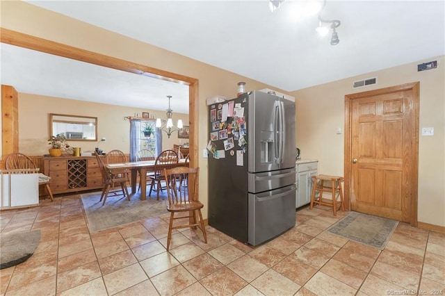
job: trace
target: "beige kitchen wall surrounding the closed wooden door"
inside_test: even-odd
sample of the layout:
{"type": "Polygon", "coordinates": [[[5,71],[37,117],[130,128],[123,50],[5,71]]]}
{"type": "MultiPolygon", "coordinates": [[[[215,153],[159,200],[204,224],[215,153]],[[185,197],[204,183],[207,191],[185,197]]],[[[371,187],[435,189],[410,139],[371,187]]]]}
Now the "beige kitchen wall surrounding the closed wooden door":
{"type": "Polygon", "coordinates": [[[434,127],[433,136],[419,135],[418,220],[445,226],[445,60],[432,57],[291,92],[296,97],[297,147],[302,158],[318,158],[318,172],[343,174],[344,96],[414,81],[420,82],[419,129],[434,127]],[[417,72],[419,63],[437,60],[437,69],[417,72]],[[378,84],[352,89],[353,81],[378,76],[378,84]],[[342,133],[336,133],[341,127],[342,133]]]}

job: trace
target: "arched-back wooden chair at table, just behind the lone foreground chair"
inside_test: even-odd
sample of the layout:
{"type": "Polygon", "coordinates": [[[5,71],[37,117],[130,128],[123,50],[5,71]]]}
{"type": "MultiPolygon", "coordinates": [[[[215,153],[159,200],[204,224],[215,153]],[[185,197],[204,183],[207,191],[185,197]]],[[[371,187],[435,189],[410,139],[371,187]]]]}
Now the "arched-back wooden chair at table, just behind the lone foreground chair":
{"type": "Polygon", "coordinates": [[[178,164],[178,155],[175,150],[164,150],[159,154],[154,162],[154,174],[150,176],[150,191],[149,196],[152,196],[152,190],[156,186],[156,199],[159,200],[159,190],[165,189],[165,185],[162,186],[162,182],[165,182],[165,176],[163,175],[164,169],[171,169],[178,164]]]}

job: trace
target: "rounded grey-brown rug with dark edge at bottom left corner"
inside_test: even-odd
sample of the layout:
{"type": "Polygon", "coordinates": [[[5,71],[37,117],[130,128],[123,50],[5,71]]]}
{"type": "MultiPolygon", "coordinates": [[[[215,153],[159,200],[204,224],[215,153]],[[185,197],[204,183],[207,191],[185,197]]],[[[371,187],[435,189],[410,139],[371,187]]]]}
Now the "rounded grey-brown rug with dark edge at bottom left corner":
{"type": "Polygon", "coordinates": [[[40,230],[0,234],[0,270],[33,256],[40,241],[40,230]]]}

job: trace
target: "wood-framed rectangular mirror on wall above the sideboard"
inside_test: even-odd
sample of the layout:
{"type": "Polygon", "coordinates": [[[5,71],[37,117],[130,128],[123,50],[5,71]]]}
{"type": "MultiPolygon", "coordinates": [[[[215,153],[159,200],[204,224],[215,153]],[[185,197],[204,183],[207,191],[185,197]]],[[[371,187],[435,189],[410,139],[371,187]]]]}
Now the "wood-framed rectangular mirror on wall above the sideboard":
{"type": "Polygon", "coordinates": [[[51,113],[49,120],[51,135],[65,133],[67,141],[97,141],[97,117],[51,113]]]}

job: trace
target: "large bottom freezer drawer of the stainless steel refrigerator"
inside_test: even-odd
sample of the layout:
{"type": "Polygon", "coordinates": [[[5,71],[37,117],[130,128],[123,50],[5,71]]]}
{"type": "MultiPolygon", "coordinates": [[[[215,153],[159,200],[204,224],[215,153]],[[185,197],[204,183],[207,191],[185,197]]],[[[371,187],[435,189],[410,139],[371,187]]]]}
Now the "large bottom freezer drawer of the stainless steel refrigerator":
{"type": "Polygon", "coordinates": [[[258,245],[270,240],[296,223],[296,187],[249,193],[248,243],[258,245]]]}

